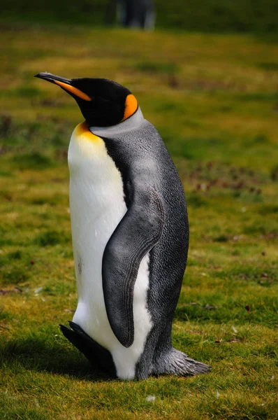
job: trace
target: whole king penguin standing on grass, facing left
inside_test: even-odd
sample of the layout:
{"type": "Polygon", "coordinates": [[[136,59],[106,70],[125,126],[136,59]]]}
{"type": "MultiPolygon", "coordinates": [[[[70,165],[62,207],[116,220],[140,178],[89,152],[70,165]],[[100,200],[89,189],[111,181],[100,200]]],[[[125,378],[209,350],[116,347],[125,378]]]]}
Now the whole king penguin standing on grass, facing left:
{"type": "Polygon", "coordinates": [[[159,133],[136,97],[112,80],[36,77],[70,94],[85,118],[68,148],[78,307],[61,331],[120,379],[208,372],[172,346],[189,224],[159,133]]]}

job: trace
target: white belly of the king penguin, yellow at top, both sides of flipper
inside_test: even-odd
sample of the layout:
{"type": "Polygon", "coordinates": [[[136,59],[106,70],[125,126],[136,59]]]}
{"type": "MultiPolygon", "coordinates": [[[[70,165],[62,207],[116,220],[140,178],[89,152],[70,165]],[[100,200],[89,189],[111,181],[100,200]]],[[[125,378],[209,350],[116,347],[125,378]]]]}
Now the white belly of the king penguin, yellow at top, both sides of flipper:
{"type": "Polygon", "coordinates": [[[68,148],[71,230],[78,307],[73,322],[110,351],[117,376],[133,379],[152,320],[147,309],[149,254],[140,263],[133,292],[134,342],[126,348],[115,337],[103,297],[102,260],[105,246],[126,214],[122,176],[105,143],[87,129],[75,128],[68,148]]]}

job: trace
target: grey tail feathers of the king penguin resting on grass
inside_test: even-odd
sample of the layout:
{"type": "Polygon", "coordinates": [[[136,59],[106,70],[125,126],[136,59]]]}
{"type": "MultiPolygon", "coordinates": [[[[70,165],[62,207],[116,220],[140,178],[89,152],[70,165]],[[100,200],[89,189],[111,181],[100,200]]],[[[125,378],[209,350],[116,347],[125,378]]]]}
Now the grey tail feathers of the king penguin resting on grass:
{"type": "Polygon", "coordinates": [[[154,374],[175,374],[193,376],[210,372],[210,366],[189,358],[182,351],[171,349],[159,357],[154,365],[154,374]]]}

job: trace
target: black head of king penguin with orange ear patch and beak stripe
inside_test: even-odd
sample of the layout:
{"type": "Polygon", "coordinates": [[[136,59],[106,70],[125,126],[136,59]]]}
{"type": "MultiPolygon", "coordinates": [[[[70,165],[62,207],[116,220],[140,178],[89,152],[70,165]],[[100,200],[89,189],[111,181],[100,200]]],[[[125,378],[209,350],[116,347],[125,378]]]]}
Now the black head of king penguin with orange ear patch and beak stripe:
{"type": "Polygon", "coordinates": [[[67,79],[52,73],[35,77],[59,85],[80,107],[89,127],[110,127],[122,123],[138,109],[136,97],[126,87],[104,78],[67,79]]]}

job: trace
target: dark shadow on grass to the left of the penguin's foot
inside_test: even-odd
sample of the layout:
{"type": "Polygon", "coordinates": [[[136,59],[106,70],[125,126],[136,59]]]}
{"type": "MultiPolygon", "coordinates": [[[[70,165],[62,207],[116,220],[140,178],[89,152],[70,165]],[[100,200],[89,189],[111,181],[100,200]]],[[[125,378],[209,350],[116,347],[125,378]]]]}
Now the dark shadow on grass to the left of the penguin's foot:
{"type": "Polygon", "coordinates": [[[112,381],[113,378],[100,370],[97,362],[89,361],[74,347],[66,347],[61,338],[50,342],[43,337],[11,339],[0,349],[1,363],[17,363],[33,372],[49,372],[84,381],[112,381]]]}

